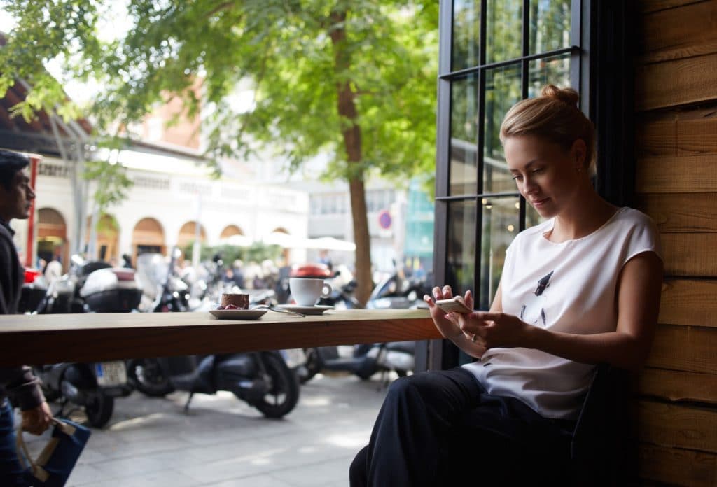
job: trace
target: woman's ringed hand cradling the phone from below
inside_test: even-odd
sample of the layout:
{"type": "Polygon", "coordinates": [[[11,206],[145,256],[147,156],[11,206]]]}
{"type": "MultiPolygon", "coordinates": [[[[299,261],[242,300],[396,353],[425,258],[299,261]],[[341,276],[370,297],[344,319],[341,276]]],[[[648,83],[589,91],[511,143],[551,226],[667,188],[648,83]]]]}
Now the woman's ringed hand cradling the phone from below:
{"type": "Polygon", "coordinates": [[[480,311],[471,314],[449,313],[448,320],[470,337],[471,342],[485,349],[530,346],[528,334],[531,325],[513,314],[480,311]]]}

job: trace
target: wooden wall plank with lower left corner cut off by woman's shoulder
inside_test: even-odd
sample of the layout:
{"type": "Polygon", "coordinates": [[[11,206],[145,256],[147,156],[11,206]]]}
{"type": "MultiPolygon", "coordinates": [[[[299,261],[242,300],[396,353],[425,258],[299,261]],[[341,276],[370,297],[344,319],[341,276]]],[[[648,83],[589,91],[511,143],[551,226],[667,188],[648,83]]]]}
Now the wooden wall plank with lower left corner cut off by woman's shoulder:
{"type": "Polygon", "coordinates": [[[717,232],[717,193],[638,193],[635,208],[663,233],[717,232]]]}

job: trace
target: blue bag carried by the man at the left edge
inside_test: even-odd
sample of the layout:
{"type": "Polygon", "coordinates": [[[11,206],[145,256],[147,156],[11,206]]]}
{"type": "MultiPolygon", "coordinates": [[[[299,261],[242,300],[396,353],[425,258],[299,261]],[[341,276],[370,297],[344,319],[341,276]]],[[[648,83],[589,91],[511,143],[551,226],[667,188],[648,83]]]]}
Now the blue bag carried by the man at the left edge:
{"type": "Polygon", "coordinates": [[[70,420],[52,419],[52,438],[33,461],[22,439],[22,430],[17,432],[17,455],[20,463],[29,463],[29,481],[35,487],[62,487],[75,468],[90,438],[90,430],[70,420]],[[23,455],[20,452],[24,453],[23,455]],[[24,461],[27,459],[27,463],[24,461]]]}

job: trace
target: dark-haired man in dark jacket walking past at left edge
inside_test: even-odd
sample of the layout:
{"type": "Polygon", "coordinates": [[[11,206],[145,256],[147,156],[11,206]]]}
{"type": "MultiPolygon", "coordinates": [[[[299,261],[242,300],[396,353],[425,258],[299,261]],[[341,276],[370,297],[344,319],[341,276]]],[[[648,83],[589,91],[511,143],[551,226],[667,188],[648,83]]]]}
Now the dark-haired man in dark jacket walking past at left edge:
{"type": "MultiPolygon", "coordinates": [[[[0,314],[17,312],[24,281],[10,221],[27,218],[35,198],[29,185],[28,165],[24,156],[0,150],[0,314]]],[[[27,486],[26,471],[17,458],[13,410],[8,397],[21,410],[22,429],[34,435],[47,430],[52,413],[30,367],[0,368],[0,486],[27,486]]]]}

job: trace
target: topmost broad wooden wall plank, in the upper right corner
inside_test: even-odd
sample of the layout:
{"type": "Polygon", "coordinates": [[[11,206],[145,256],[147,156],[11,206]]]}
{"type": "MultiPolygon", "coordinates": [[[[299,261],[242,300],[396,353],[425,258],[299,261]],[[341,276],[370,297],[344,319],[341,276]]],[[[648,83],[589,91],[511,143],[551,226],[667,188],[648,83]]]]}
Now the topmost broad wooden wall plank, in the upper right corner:
{"type": "Polygon", "coordinates": [[[642,17],[638,62],[717,52],[717,2],[703,1],[642,17]]]}

